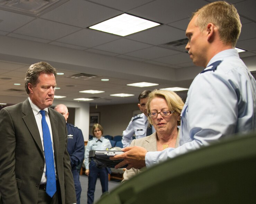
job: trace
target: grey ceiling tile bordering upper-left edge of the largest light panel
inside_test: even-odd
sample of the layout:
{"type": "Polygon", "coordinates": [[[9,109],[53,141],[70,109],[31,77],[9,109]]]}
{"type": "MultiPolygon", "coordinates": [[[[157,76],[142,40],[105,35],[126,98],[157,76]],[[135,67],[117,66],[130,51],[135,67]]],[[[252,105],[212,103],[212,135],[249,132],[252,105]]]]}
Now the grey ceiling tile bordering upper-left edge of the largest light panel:
{"type": "Polygon", "coordinates": [[[85,0],[70,0],[41,18],[86,28],[121,13],[121,11],[85,0]],[[76,18],[71,18],[74,16],[76,18]]]}

